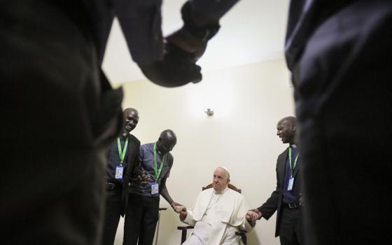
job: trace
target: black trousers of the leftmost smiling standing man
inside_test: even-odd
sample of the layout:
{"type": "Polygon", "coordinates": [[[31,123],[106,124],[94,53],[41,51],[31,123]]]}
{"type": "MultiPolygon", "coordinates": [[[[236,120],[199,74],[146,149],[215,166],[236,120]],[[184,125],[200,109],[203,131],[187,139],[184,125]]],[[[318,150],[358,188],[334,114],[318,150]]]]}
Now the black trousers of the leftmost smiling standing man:
{"type": "MultiPolygon", "coordinates": [[[[118,222],[124,211],[124,200],[121,198],[122,189],[106,190],[106,205],[104,214],[104,230],[101,245],[113,245],[116,238],[118,222]]],[[[126,230],[124,231],[124,235],[126,230]]]]}

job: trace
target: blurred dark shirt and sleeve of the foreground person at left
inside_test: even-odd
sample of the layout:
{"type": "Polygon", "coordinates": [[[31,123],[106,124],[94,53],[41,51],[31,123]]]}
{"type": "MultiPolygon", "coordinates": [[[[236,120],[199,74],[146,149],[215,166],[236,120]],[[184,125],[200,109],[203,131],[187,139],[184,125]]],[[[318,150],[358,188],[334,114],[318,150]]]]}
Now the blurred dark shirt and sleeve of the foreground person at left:
{"type": "MultiPolygon", "coordinates": [[[[52,1],[52,0],[48,0],[52,1]]],[[[161,59],[163,41],[160,6],[162,0],[78,0],[52,1],[92,40],[99,66],[115,17],[135,62],[150,63],[161,59]]]]}

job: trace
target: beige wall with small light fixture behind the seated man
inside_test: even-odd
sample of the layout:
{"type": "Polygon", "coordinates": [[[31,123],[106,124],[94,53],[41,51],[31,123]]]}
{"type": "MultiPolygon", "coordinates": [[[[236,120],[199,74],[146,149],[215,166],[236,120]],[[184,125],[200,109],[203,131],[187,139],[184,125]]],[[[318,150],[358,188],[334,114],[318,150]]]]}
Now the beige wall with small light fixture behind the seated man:
{"type": "MultiPolygon", "coordinates": [[[[141,144],[156,141],[172,129],[177,145],[167,188],[176,202],[190,206],[202,186],[211,183],[218,165],[228,167],[249,207],[259,207],[276,187],[276,158],[285,148],[276,123],[294,115],[293,89],[283,59],[203,73],[203,81],[164,88],[142,80],[124,85],[123,107],[139,110],[133,134],[141,144]],[[212,107],[211,118],[204,108],[212,107]]],[[[161,198],[160,207],[169,207],[161,198]]],[[[274,245],[276,215],[258,221],[248,244],[274,245]]],[[[181,225],[169,207],[161,215],[158,244],[180,244],[181,225]]],[[[123,221],[116,244],[122,244],[123,221]]]]}

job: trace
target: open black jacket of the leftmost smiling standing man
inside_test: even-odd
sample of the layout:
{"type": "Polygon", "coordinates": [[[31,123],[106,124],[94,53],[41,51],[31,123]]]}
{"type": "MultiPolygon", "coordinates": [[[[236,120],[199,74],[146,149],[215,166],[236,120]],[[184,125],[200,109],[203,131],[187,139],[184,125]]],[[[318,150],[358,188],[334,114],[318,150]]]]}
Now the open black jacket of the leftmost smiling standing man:
{"type": "Polygon", "coordinates": [[[128,189],[130,178],[138,176],[141,172],[140,163],[139,163],[139,150],[140,150],[140,141],[137,137],[130,134],[130,140],[128,141],[128,158],[127,158],[127,166],[124,169],[124,177],[123,177],[123,191],[122,198],[125,202],[123,215],[125,214],[125,210],[127,209],[128,204],[128,189]]]}

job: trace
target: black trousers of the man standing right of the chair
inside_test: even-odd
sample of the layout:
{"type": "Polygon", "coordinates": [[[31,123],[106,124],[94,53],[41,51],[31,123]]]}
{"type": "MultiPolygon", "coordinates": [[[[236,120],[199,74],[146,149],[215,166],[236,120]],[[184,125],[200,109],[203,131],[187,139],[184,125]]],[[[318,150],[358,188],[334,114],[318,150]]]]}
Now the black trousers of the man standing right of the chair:
{"type": "Polygon", "coordinates": [[[283,207],[280,218],[279,239],[281,245],[303,245],[302,208],[283,207]]]}

